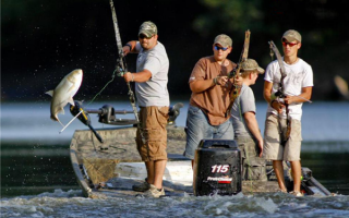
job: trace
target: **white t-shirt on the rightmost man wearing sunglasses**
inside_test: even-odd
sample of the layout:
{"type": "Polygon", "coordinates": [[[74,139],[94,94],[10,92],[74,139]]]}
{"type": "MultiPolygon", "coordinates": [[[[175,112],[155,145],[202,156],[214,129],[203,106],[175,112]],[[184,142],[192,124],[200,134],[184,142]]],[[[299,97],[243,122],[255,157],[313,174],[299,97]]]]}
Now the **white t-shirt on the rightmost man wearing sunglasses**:
{"type": "MultiPolygon", "coordinates": [[[[298,96],[302,93],[303,87],[314,86],[313,84],[313,70],[302,59],[299,59],[294,64],[287,64],[284,61],[285,71],[287,76],[284,78],[285,95],[287,96],[298,96]]],[[[272,95],[277,92],[279,87],[281,74],[280,66],[277,60],[269,63],[265,71],[264,80],[273,83],[272,95]]],[[[294,102],[288,106],[289,116],[292,119],[301,120],[302,117],[302,102],[294,102]]],[[[268,106],[267,112],[273,112],[277,114],[277,111],[268,106]]],[[[286,119],[286,110],[284,109],[282,118],[286,119]]]]}

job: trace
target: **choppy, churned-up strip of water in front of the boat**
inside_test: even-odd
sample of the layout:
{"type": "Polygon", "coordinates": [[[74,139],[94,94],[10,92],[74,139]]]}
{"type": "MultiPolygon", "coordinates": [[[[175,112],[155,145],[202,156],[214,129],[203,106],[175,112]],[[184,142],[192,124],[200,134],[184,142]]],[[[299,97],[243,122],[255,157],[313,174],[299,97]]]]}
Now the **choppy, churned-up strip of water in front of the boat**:
{"type": "Polygon", "coordinates": [[[103,198],[77,191],[1,199],[1,217],[348,217],[349,196],[288,194],[103,198]]]}

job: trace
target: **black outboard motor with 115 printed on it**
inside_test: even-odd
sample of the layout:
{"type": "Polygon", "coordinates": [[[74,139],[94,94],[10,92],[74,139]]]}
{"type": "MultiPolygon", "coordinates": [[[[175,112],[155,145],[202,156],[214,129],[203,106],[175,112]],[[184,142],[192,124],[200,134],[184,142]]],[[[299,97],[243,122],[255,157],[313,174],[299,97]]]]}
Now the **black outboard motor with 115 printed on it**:
{"type": "Polygon", "coordinates": [[[196,196],[241,192],[241,152],[234,141],[202,140],[195,150],[193,170],[196,196]]]}

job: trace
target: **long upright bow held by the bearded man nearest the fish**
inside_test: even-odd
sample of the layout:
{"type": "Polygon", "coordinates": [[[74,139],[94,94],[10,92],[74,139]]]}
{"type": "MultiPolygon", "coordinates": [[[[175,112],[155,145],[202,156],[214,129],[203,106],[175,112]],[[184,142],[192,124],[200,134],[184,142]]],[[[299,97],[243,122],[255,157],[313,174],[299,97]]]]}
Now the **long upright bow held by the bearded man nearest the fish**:
{"type": "MultiPolygon", "coordinates": [[[[119,71],[118,76],[123,76],[123,74],[125,72],[128,72],[128,70],[127,70],[128,66],[127,66],[125,57],[124,57],[124,53],[122,50],[122,43],[121,43],[121,36],[120,36],[120,31],[119,31],[119,25],[118,25],[118,20],[117,20],[117,12],[113,7],[112,0],[110,0],[110,9],[111,9],[113,29],[116,32],[117,46],[118,46],[118,51],[119,51],[119,58],[117,61],[117,71],[119,71]]],[[[129,88],[129,96],[130,96],[131,106],[132,106],[132,109],[134,112],[135,120],[137,122],[137,129],[140,130],[142,142],[145,143],[143,129],[141,126],[141,122],[140,122],[140,118],[139,118],[139,111],[135,106],[135,97],[134,97],[133,90],[131,88],[130,82],[128,82],[127,84],[128,84],[128,88],[129,88]]]]}

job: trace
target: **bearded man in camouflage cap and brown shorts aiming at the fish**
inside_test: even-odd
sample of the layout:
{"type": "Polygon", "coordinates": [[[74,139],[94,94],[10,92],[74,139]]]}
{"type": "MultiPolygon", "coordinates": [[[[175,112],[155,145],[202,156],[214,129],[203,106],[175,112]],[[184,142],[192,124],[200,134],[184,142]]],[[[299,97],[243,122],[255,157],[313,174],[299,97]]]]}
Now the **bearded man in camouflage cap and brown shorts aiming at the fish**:
{"type": "Polygon", "coordinates": [[[132,189],[151,197],[165,195],[163,175],[167,162],[166,125],[170,104],[167,90],[169,60],[157,38],[156,25],[144,22],[140,27],[139,40],[131,40],[123,47],[124,55],[139,53],[136,72],[127,72],[123,77],[125,82],[135,83],[143,133],[142,138],[137,130],[136,145],[147,170],[145,182],[132,189]]]}

